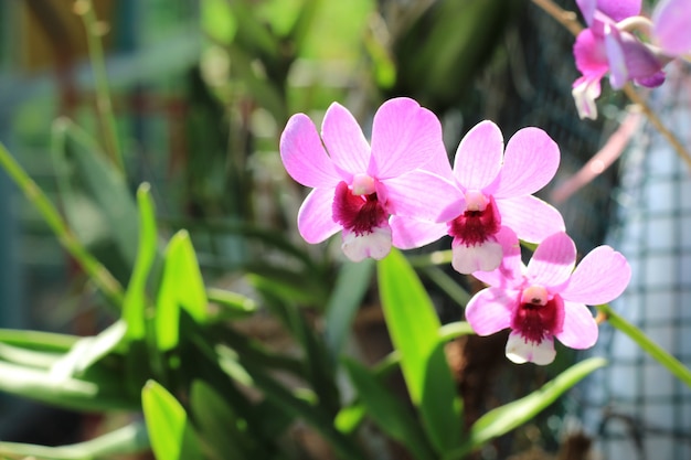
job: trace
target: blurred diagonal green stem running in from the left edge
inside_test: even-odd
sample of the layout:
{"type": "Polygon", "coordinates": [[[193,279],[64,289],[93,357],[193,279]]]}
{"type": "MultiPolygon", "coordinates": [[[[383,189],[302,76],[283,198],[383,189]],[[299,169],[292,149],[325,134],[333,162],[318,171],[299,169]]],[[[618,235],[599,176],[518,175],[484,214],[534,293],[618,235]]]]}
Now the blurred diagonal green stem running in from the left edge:
{"type": "Polygon", "coordinates": [[[53,229],[60,244],[75,258],[84,271],[94,280],[103,293],[116,306],[123,303],[124,295],[120,284],[110,272],[92,256],[79,243],[74,232],[57,212],[43,190],[26,174],[26,171],[14,160],[0,142],[0,167],[21,189],[26,199],[41,213],[45,223],[53,229]]]}

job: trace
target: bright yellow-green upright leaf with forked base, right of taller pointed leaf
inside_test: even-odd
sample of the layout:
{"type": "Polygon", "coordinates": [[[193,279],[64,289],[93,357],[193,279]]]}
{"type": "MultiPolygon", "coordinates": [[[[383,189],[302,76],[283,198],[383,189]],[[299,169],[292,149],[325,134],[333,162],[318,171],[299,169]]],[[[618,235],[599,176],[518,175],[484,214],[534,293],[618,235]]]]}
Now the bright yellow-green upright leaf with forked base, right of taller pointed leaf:
{"type": "Polygon", "coordinates": [[[156,338],[161,351],[172,350],[180,340],[180,309],[205,322],[206,291],[199,263],[185,231],[171,238],[166,249],[163,277],[157,300],[156,338]]]}

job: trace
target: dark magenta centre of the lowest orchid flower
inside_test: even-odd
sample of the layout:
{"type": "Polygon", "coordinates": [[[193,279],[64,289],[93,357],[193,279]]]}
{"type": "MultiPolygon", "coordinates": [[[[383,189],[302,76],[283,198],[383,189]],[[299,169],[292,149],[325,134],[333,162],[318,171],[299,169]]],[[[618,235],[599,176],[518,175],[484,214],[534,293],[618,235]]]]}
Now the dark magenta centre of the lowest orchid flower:
{"type": "Polygon", "coordinates": [[[562,330],[564,301],[559,295],[550,296],[542,286],[530,286],[521,292],[520,302],[511,319],[511,329],[528,342],[541,343],[562,330]]]}

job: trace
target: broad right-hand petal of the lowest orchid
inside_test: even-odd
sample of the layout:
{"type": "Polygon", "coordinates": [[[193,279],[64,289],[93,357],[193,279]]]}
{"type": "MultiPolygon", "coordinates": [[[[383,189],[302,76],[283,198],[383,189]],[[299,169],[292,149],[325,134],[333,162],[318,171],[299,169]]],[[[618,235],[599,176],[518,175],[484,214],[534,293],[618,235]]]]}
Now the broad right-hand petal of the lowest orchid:
{"type": "Polygon", "coordinates": [[[609,246],[598,246],[581,260],[561,296],[591,306],[607,303],[624,292],[630,279],[626,257],[609,246]]]}

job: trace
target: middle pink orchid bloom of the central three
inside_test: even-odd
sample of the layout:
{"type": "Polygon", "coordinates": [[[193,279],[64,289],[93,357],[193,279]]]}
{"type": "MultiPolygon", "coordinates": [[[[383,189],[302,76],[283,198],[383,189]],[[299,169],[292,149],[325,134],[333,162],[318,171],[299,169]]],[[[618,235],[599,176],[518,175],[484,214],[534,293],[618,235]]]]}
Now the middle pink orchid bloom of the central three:
{"type": "Polygon", "coordinates": [[[532,196],[554,176],[559,162],[559,147],[543,130],[519,130],[504,152],[499,127],[481,121],[461,139],[453,171],[448,161],[425,167],[456,184],[436,223],[392,217],[394,245],[419,247],[448,234],[454,237],[451,265],[457,271],[496,269],[503,257],[498,238],[508,228],[531,243],[564,231],[559,211],[532,196]]]}

